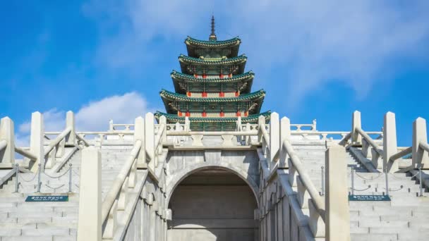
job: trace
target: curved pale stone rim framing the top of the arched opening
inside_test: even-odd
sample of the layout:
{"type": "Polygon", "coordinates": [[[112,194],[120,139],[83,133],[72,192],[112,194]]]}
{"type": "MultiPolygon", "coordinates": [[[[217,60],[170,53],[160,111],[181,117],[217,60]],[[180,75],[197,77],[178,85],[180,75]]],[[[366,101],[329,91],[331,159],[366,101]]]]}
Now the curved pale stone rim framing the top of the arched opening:
{"type": "Polygon", "coordinates": [[[248,187],[250,187],[250,190],[253,192],[253,196],[255,197],[255,202],[259,208],[259,199],[258,199],[258,192],[259,192],[259,186],[258,183],[252,178],[246,171],[242,170],[241,168],[236,168],[234,166],[226,166],[226,165],[213,165],[208,163],[197,163],[193,166],[191,166],[191,170],[189,168],[183,169],[179,173],[175,173],[174,177],[169,180],[167,183],[167,200],[166,204],[167,206],[170,203],[170,199],[172,194],[174,193],[174,190],[176,190],[176,187],[188,176],[198,173],[199,171],[204,170],[210,170],[210,169],[219,169],[223,171],[229,171],[230,173],[234,173],[239,178],[244,180],[244,182],[247,183],[248,187]]]}

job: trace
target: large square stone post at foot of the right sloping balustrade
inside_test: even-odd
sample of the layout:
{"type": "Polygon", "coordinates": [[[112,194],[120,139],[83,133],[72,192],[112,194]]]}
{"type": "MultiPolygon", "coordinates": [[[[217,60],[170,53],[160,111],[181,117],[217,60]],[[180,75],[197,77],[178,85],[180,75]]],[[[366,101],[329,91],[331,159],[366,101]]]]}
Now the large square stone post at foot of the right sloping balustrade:
{"type": "Polygon", "coordinates": [[[346,149],[337,144],[327,149],[325,234],[326,240],[350,240],[349,199],[347,195],[346,149]]]}

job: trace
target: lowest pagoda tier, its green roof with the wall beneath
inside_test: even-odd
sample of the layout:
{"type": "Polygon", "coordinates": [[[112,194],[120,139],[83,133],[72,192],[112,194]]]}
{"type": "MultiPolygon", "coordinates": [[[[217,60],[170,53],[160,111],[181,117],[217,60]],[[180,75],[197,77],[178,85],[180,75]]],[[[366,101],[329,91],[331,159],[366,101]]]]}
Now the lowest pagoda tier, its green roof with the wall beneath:
{"type": "MultiPolygon", "coordinates": [[[[270,121],[270,111],[259,113],[255,115],[250,115],[246,117],[241,117],[241,123],[258,123],[259,116],[265,116],[265,121],[268,123],[270,121]]],[[[155,118],[159,120],[160,116],[165,116],[167,118],[167,123],[185,123],[186,117],[177,116],[175,114],[162,113],[157,111],[155,113],[155,118]]],[[[236,130],[236,121],[237,117],[188,117],[191,121],[191,130],[192,131],[234,131],[236,130]]]]}

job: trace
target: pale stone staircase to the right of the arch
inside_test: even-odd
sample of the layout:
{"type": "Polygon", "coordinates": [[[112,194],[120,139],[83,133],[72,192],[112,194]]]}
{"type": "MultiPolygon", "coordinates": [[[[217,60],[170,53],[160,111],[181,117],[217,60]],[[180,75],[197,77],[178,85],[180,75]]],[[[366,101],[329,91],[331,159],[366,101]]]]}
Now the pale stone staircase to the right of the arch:
{"type": "MultiPolygon", "coordinates": [[[[315,187],[321,191],[325,143],[294,144],[294,149],[315,187]]],[[[355,191],[355,194],[385,194],[384,173],[369,173],[349,152],[346,163],[356,170],[354,189],[364,190],[355,191]]],[[[410,173],[394,173],[388,178],[391,202],[349,202],[351,240],[429,240],[429,197],[425,192],[423,197],[418,197],[418,177],[412,178],[410,173]]]]}

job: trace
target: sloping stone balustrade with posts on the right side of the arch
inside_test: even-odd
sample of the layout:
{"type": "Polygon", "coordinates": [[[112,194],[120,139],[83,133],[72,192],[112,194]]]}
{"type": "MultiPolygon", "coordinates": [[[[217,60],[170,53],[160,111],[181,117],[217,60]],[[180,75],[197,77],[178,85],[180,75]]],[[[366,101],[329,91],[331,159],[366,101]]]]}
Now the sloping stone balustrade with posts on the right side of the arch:
{"type": "MultiPolygon", "coordinates": [[[[279,115],[272,113],[270,120],[270,133],[267,133],[264,117],[260,116],[258,121],[260,156],[265,159],[261,164],[262,169],[267,170],[262,182],[263,187],[260,187],[264,190],[261,202],[265,202],[265,206],[258,213],[258,218],[261,221],[261,227],[273,225],[273,217],[278,218],[277,221],[285,221],[289,225],[281,229],[274,228],[275,233],[262,229],[262,240],[274,240],[274,237],[279,237],[279,235],[287,236],[286,240],[315,240],[324,237],[328,237],[328,240],[350,240],[346,165],[338,165],[339,162],[344,161],[344,147],[335,144],[334,147],[327,150],[327,175],[331,173],[336,177],[341,175],[340,178],[344,181],[338,183],[337,180],[327,178],[328,188],[326,200],[324,200],[310,180],[298,155],[294,152],[291,144],[292,132],[289,118],[284,117],[279,120],[279,115]],[[287,172],[286,169],[288,169],[287,172]],[[274,176],[280,178],[276,179],[274,176]],[[286,177],[286,180],[282,176],[286,177]],[[281,191],[275,180],[279,180],[281,191]],[[286,200],[282,201],[285,198],[286,200]],[[325,202],[327,202],[326,206],[325,202]],[[279,211],[285,209],[294,214],[289,211],[286,213],[279,211]],[[339,213],[344,219],[337,218],[339,213]],[[335,233],[333,227],[340,228],[342,232],[335,233]]],[[[347,133],[340,134],[347,135],[347,133]]]]}

